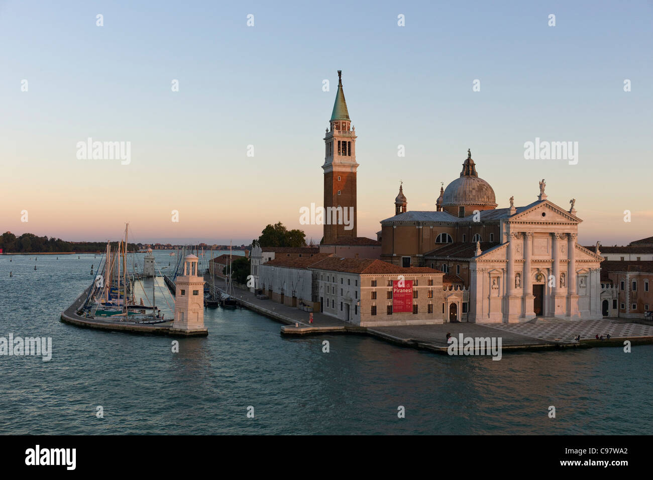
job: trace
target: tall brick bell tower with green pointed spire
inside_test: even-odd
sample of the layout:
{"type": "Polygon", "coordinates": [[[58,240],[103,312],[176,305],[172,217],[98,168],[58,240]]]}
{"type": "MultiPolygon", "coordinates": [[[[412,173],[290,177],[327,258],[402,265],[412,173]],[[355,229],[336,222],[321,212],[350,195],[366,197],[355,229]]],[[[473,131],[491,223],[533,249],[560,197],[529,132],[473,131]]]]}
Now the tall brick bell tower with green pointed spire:
{"type": "MultiPolygon", "coordinates": [[[[325,136],[325,163],[322,165],[325,175],[324,207],[347,209],[345,215],[349,226],[347,230],[340,213],[339,223],[328,225],[325,214],[324,244],[333,244],[339,237],[356,238],[356,131],[351,128],[345,93],[342,91],[342,70],[338,70],[338,93],[333,104],[333,112],[329,121],[330,129],[325,136]],[[353,210],[351,210],[351,208],[353,210]],[[350,214],[351,212],[351,214],[350,214]]],[[[329,219],[330,220],[330,219],[329,219]]]]}

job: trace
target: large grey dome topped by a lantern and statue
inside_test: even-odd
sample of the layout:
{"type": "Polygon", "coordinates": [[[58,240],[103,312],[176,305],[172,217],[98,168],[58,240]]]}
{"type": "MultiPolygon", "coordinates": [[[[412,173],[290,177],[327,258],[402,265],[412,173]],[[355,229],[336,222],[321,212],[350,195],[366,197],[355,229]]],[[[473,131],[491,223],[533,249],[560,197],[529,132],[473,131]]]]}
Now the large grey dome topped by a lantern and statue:
{"type": "Polygon", "coordinates": [[[468,150],[468,157],[462,164],[460,177],[447,185],[442,199],[443,206],[488,206],[496,208],[494,190],[490,184],[479,178],[476,166],[471,159],[471,152],[468,150]]]}

